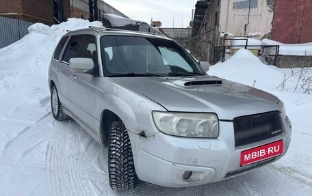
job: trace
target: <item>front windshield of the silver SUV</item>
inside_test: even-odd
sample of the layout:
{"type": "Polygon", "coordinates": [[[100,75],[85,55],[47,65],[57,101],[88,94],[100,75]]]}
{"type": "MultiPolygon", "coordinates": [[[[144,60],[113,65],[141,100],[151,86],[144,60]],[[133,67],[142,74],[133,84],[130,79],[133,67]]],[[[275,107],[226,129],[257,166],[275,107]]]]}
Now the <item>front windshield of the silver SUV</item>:
{"type": "Polygon", "coordinates": [[[205,75],[187,51],[171,40],[103,36],[101,53],[106,76],[205,75]]]}

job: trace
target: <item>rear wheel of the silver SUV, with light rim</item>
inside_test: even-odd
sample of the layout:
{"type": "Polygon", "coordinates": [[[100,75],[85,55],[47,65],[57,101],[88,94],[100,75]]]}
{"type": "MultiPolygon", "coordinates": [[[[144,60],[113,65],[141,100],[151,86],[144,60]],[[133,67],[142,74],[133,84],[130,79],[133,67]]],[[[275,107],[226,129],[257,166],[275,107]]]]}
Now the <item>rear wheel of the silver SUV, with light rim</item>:
{"type": "Polygon", "coordinates": [[[57,89],[53,85],[51,90],[51,111],[55,120],[68,120],[69,117],[63,112],[63,106],[58,98],[57,89]]]}

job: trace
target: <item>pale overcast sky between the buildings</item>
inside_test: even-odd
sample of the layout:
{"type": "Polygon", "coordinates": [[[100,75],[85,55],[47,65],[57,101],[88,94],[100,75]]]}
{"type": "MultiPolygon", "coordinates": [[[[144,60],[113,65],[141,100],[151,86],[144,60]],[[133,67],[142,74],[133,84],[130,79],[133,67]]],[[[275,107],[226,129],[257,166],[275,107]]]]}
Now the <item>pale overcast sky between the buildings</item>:
{"type": "Polygon", "coordinates": [[[195,0],[104,0],[131,19],[148,24],[161,21],[162,27],[188,27],[195,0]]]}

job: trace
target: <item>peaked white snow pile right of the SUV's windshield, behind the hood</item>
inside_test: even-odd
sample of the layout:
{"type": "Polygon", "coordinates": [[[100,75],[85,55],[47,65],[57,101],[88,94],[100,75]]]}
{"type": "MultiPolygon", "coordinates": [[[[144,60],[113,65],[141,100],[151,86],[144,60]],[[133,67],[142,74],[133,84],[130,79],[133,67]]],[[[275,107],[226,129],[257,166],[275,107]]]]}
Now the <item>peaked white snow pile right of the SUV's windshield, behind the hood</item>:
{"type": "MultiPolygon", "coordinates": [[[[274,92],[280,92],[282,88],[279,87],[276,89],[276,87],[291,76],[285,81],[284,90],[287,92],[294,92],[301,69],[302,68],[280,69],[275,66],[265,65],[250,51],[239,49],[230,59],[223,63],[218,63],[215,66],[211,66],[209,74],[270,92],[272,92],[272,90],[274,90],[274,92]]],[[[312,76],[312,69],[305,68],[304,76],[306,76],[306,78],[312,76]]],[[[299,85],[302,85],[302,80],[300,79],[299,85]]],[[[296,91],[298,93],[303,93],[303,90],[300,89],[296,91]]]]}

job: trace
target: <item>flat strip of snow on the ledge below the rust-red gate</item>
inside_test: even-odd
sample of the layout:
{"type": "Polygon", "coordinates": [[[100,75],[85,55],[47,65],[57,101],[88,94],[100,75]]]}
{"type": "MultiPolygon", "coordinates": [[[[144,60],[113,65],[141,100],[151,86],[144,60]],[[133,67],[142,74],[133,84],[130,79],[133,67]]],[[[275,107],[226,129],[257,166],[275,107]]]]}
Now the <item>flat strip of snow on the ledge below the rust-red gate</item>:
{"type": "MultiPolygon", "coordinates": [[[[293,56],[311,56],[312,55],[312,42],[305,44],[283,44],[274,40],[263,39],[263,45],[279,45],[280,55],[293,55],[293,56]]],[[[275,55],[275,48],[267,48],[266,52],[270,55],[275,55]]]]}

